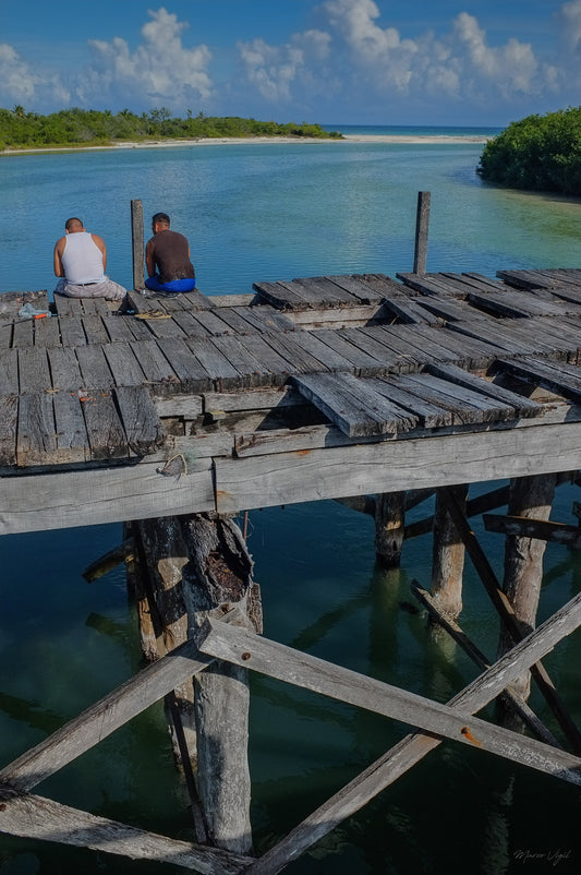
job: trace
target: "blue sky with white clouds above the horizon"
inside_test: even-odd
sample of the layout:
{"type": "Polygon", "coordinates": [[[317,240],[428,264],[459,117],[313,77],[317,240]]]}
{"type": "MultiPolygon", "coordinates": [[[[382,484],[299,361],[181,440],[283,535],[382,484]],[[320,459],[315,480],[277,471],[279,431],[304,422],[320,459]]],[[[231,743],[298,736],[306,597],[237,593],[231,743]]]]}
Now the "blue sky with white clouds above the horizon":
{"type": "Polygon", "coordinates": [[[581,0],[0,0],[0,106],[504,125],[581,104],[581,0]]]}

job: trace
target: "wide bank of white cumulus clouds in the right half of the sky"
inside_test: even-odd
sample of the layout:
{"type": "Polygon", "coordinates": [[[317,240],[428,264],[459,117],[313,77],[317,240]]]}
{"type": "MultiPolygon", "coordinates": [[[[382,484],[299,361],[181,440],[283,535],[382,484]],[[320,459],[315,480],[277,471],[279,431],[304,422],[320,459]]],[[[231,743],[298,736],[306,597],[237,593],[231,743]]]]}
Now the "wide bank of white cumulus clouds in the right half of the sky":
{"type": "MultiPolygon", "coordinates": [[[[581,45],[581,0],[566,3],[562,12],[570,38],[581,45]]],[[[241,47],[246,76],[263,97],[290,100],[308,75],[319,82],[340,80],[346,97],[360,94],[367,101],[373,95],[377,101],[400,103],[438,96],[493,106],[555,92],[565,79],[558,65],[541,62],[529,43],[512,37],[501,46],[491,45],[485,29],[467,12],[450,22],[447,34],[436,37],[426,31],[413,39],[382,26],[374,0],[326,0],[319,13],[324,68],[306,41],[300,63],[292,63],[291,50],[306,34],[295,34],[285,46],[261,40],[259,46],[241,47]]]]}

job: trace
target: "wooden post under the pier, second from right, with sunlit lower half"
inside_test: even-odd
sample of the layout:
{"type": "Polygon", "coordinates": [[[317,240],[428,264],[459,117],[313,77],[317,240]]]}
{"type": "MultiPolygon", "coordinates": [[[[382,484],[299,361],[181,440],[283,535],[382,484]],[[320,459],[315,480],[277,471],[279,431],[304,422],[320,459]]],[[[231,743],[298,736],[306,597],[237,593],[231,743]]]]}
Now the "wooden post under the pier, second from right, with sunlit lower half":
{"type": "MultiPolygon", "coordinates": [[[[465,513],[468,487],[450,487],[458,505],[465,513]]],[[[434,513],[434,546],[432,567],[432,595],[439,610],[457,620],[462,611],[462,574],[464,570],[464,542],[450,516],[447,492],[436,491],[434,513]]]]}

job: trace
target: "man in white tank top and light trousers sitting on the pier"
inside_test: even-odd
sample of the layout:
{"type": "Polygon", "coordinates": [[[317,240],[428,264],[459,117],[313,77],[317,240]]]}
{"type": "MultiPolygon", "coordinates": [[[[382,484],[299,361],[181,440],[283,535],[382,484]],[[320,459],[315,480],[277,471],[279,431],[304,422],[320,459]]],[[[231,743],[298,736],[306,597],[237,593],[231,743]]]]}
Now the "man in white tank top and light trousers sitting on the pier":
{"type": "Polygon", "coordinates": [[[106,275],[107,249],[101,238],[88,233],[80,218],[66,219],[65,235],[55,244],[56,295],[69,298],[106,298],[121,301],[125,289],[106,275]]]}

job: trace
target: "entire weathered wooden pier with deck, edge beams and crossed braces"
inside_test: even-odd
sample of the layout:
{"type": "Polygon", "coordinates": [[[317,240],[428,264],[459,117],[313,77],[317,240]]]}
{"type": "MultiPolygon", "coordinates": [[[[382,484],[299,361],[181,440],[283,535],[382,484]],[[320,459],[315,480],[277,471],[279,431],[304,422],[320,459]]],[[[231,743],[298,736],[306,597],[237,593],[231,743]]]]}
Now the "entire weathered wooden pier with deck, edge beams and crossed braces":
{"type": "MultiPolygon", "coordinates": [[[[470,483],[530,479],[537,488],[542,481],[546,495],[535,506],[550,510],[555,482],[574,479],[581,467],[581,269],[499,271],[497,277],[311,277],[256,283],[253,293],[237,296],[132,291],[120,307],[49,302],[45,292],[0,296],[0,534],[191,515],[219,520],[258,507],[377,495],[376,511],[384,508],[376,513],[377,542],[387,540],[385,551],[397,561],[404,496],[437,490],[437,526],[446,532],[437,563],[447,572],[433,588],[433,596],[444,590],[439,609],[432,599],[433,612],[443,621],[451,616],[455,634],[461,601],[446,590],[455,575],[461,585],[463,553],[458,566],[449,551],[456,539],[508,628],[508,654],[492,668],[481,659],[477,681],[440,706],[299,659],[258,636],[259,622],[249,628],[239,613],[232,623],[235,598],[222,594],[197,624],[195,642],[190,616],[178,649],[158,652],[164,658],[141,675],[4,766],[0,829],[199,872],[270,873],[441,738],[477,740],[483,750],[581,783],[581,738],[537,664],[581,624],[580,597],[533,631],[534,611],[526,620],[507,600],[465,524],[470,483]],[[32,316],[22,310],[26,303],[32,316]],[[380,503],[386,495],[396,499],[380,503]],[[226,622],[217,619],[222,615],[226,622]],[[216,660],[302,683],[420,730],[259,860],[247,841],[243,850],[227,840],[209,847],[199,837],[177,842],[31,794],[216,660]],[[468,716],[531,667],[543,675],[572,753],[553,746],[542,728],[536,741],[468,716]],[[65,823],[76,827],[69,838],[65,823]]],[[[509,538],[579,546],[572,527],[547,522],[548,511],[526,514],[526,501],[511,517],[491,517],[488,527],[509,538]]],[[[419,597],[429,602],[429,594],[419,597]]],[[[184,599],[182,613],[201,610],[184,599]]],[[[517,698],[526,717],[525,693],[517,698]]]]}

